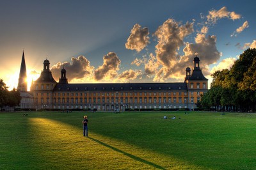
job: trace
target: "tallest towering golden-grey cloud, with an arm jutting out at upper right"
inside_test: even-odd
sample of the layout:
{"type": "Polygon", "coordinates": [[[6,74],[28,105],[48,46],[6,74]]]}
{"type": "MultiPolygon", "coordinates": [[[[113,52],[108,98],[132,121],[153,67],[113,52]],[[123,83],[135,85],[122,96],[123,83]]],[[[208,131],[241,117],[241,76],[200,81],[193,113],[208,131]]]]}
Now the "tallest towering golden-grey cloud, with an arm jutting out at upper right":
{"type": "Polygon", "coordinates": [[[166,20],[154,33],[158,44],[156,45],[157,61],[165,68],[172,68],[177,58],[178,50],[184,45],[184,38],[193,33],[193,23],[180,25],[173,19],[166,20]]]}

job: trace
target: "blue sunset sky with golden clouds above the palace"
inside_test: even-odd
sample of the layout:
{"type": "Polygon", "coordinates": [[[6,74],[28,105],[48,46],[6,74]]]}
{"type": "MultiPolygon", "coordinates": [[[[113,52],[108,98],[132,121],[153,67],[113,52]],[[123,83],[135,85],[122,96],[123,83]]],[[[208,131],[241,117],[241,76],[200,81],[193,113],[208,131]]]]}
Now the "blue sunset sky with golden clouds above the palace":
{"type": "Polygon", "coordinates": [[[183,82],[200,58],[211,73],[256,48],[256,1],[0,0],[0,79],[28,86],[48,59],[58,82],[183,82]]]}

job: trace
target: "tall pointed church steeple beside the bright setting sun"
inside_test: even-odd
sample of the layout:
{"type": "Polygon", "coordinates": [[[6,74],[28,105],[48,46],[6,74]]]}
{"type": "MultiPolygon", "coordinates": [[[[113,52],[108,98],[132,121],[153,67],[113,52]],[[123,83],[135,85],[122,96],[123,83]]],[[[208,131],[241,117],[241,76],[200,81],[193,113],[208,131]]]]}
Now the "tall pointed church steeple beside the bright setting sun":
{"type": "Polygon", "coordinates": [[[20,76],[19,76],[19,83],[18,83],[17,89],[19,91],[28,91],[27,69],[26,69],[26,63],[25,63],[24,50],[22,53],[22,60],[20,65],[20,76]]]}

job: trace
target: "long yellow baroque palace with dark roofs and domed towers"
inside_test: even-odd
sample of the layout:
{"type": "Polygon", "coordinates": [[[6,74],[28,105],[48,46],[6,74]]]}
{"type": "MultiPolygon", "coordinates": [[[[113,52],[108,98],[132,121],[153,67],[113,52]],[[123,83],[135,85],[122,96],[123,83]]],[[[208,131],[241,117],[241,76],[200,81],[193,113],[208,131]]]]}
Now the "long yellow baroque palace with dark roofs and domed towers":
{"type": "Polygon", "coordinates": [[[193,62],[192,73],[186,68],[184,82],[74,84],[68,83],[65,68],[56,82],[45,59],[44,70],[30,89],[33,109],[195,109],[208,89],[208,80],[200,69],[200,59],[195,57],[193,62]]]}

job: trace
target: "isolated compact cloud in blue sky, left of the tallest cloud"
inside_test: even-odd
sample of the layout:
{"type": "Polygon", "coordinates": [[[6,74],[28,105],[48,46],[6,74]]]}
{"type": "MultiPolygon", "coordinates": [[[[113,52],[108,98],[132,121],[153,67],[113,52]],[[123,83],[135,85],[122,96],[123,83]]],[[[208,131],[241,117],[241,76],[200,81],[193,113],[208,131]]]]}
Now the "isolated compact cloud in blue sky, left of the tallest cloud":
{"type": "Polygon", "coordinates": [[[131,35],[127,39],[127,43],[125,43],[125,47],[140,52],[150,43],[148,35],[149,31],[147,27],[141,29],[139,24],[135,24],[131,30],[131,35]]]}

